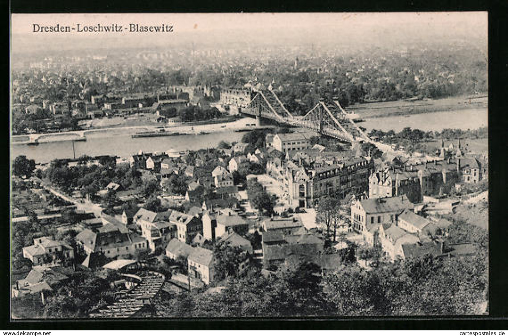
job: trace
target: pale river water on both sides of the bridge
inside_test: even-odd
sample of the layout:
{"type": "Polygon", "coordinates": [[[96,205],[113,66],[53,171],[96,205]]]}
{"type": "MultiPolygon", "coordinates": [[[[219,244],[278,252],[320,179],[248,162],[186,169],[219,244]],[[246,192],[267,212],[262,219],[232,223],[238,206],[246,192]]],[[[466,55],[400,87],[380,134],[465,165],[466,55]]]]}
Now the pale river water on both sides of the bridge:
{"type": "MultiPolygon", "coordinates": [[[[358,125],[370,130],[372,128],[400,131],[404,127],[422,130],[442,130],[443,128],[475,129],[488,125],[487,109],[470,109],[409,116],[389,116],[369,119],[358,125]]],[[[221,140],[238,142],[244,132],[225,130],[204,135],[183,135],[158,138],[132,138],[121,129],[93,132],[86,135],[87,140],[75,142],[76,157],[81,155],[117,155],[130,156],[137,152],[165,152],[170,149],[177,151],[197,150],[200,148],[217,147],[221,140]]],[[[72,141],[41,143],[37,146],[12,145],[11,157],[26,155],[38,163],[50,162],[56,158],[72,158],[72,141]]]]}

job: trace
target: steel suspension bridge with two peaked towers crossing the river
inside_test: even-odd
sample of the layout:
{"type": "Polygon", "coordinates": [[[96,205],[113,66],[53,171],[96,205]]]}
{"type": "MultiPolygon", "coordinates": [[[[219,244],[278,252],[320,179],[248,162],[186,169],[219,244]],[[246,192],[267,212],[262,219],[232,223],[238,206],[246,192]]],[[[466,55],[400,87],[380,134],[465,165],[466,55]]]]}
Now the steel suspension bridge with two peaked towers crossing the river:
{"type": "Polygon", "coordinates": [[[333,103],[320,100],[304,116],[294,116],[280,102],[275,92],[268,88],[258,91],[241,113],[258,119],[265,118],[281,124],[308,128],[343,142],[372,142],[347,116],[337,100],[333,103]]]}

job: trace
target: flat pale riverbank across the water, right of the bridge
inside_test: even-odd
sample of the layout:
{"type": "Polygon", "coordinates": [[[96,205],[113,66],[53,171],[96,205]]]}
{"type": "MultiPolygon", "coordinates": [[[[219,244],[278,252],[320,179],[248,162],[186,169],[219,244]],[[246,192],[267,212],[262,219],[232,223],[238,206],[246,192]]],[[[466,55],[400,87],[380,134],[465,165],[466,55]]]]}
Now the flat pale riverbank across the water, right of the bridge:
{"type": "Polygon", "coordinates": [[[488,108],[488,96],[461,96],[442,99],[395,100],[393,102],[363,103],[345,110],[357,113],[362,119],[406,116],[469,109],[488,108]]]}

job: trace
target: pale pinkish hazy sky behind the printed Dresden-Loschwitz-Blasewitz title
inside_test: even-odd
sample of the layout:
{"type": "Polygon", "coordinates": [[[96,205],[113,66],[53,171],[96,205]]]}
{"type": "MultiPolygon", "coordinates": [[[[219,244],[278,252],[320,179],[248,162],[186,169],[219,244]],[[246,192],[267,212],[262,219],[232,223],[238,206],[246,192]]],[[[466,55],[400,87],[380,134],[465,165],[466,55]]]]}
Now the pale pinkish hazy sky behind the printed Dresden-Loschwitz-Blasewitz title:
{"type": "MultiPolygon", "coordinates": [[[[29,49],[78,49],[94,47],[150,46],[182,42],[245,42],[249,37],[277,43],[280,36],[294,42],[320,43],[372,35],[404,37],[487,37],[486,12],[448,13],[238,13],[238,14],[13,14],[12,51],[29,49]],[[173,25],[173,33],[68,33],[33,32],[33,24],[54,26],[173,25]],[[333,36],[332,36],[333,35],[333,36]]],[[[287,41],[287,40],[283,40],[287,41]]]]}

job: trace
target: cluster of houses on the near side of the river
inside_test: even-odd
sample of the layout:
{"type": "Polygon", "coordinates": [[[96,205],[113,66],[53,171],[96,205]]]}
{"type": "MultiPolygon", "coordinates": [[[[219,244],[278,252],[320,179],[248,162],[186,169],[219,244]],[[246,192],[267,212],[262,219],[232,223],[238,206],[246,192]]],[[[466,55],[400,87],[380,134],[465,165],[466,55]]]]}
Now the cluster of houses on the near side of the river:
{"type": "MultiPolygon", "coordinates": [[[[267,136],[266,148],[255,150],[238,143],[230,149],[139,153],[123,160],[143,174],[160,178],[162,185],[173,175],[184,177],[190,208],[153,212],[135,207],[114,217],[103,213],[100,218],[81,214],[75,247],[53,237],[38,237],[23,248],[23,256],[35,266],[31,275],[16,282],[13,295],[44,290],[64,279],[65,275],[48,272],[47,267],[57,270],[79,264],[93,268],[111,259],[132,259],[146,250],[179,262],[189,277],[210,284],[216,276],[217,260],[209,249],[213,242],[240,248],[245,256],[239,266],[242,270],[252,258],[262,260],[269,270],[295,259],[312,261],[323,272],[340,270],[340,255],[325,253],[326,239],[319,231],[307,229],[298,214],[280,213],[258,222],[239,201],[228,201],[240,199],[235,172],[248,173],[253,163],[265,166],[267,174],[281,183],[287,204],[294,209],[315,207],[325,195],[354,195],[351,220],[340,230],[356,232],[363,244],[382,248],[391,260],[428,253],[436,257],[475,253],[474,244],[448,244],[451,223],[430,216],[424,201],[450,193],[458,183],[485,178],[477,158],[459,150],[451,155],[443,147],[439,160],[408,162],[402,157],[385,157],[379,162],[359,145],[331,152],[321,145],[311,146],[311,137],[299,132],[277,134],[267,136]],[[211,188],[214,196],[203,199],[200,187],[211,188]],[[261,250],[253,249],[246,239],[255,231],[262,236],[261,250]]],[[[104,192],[110,190],[123,192],[116,183],[110,183],[104,192]]]]}

